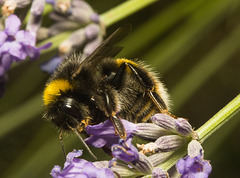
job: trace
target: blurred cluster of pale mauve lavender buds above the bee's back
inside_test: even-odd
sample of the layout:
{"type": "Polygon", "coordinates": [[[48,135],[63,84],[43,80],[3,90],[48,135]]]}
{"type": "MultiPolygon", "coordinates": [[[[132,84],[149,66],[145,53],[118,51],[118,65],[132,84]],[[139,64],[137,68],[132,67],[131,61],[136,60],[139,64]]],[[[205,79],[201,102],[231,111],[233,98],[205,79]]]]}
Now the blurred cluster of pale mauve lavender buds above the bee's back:
{"type": "MultiPolygon", "coordinates": [[[[53,6],[54,11],[50,14],[50,18],[56,23],[48,29],[41,28],[39,36],[46,38],[66,30],[72,30],[74,32],[59,45],[58,55],[63,58],[63,56],[68,56],[73,51],[82,48],[82,58],[88,57],[101,44],[105,34],[105,28],[100,23],[99,15],[87,2],[82,0],[47,0],[46,2],[53,6]]],[[[43,68],[47,68],[50,74],[55,70],[55,68],[51,68],[51,64],[57,64],[55,59],[52,60],[54,61],[43,64],[43,68]],[[47,66],[48,64],[50,66],[47,66]]]]}

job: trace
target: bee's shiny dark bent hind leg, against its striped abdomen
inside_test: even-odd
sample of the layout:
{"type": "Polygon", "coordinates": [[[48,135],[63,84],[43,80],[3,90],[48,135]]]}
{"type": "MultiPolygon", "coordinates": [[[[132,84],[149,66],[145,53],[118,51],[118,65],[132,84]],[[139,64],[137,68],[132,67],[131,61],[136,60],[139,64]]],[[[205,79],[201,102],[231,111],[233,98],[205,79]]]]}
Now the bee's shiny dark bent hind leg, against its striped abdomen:
{"type": "Polygon", "coordinates": [[[139,83],[144,86],[147,90],[149,97],[152,99],[154,104],[158,107],[161,113],[168,113],[168,109],[163,99],[154,91],[155,83],[154,81],[140,68],[133,66],[132,64],[126,63],[127,66],[131,69],[131,71],[137,77],[139,83]]]}

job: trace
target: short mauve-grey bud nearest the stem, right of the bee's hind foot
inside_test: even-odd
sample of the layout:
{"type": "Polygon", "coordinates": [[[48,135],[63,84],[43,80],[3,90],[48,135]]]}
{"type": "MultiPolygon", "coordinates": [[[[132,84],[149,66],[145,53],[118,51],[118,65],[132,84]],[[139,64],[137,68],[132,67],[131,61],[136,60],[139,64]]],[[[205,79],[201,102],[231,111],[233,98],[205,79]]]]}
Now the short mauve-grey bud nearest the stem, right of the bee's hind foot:
{"type": "Polygon", "coordinates": [[[184,118],[177,118],[174,123],[176,131],[181,135],[187,136],[193,131],[192,126],[184,118]]]}

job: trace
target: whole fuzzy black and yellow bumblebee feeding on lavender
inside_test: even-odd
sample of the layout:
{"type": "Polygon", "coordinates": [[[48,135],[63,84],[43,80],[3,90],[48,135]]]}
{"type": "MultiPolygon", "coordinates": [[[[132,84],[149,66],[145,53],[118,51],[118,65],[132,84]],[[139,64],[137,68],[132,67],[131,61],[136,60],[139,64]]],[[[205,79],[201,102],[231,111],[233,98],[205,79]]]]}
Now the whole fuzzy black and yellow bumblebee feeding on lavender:
{"type": "Polygon", "coordinates": [[[121,119],[149,122],[155,113],[168,112],[168,94],[155,73],[141,62],[114,59],[122,50],[116,44],[130,29],[117,29],[83,62],[76,54],[66,58],[50,77],[44,117],[61,131],[82,133],[87,125],[110,119],[125,138],[121,119]]]}

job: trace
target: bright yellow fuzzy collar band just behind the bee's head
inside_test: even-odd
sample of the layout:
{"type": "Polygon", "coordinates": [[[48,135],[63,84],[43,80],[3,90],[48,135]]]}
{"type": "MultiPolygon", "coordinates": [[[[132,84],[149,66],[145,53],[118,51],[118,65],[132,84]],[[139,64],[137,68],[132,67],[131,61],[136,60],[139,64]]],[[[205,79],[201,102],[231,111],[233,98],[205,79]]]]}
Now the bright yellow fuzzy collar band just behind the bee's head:
{"type": "Polygon", "coordinates": [[[54,102],[58,96],[61,95],[61,92],[67,92],[71,90],[73,86],[69,83],[68,80],[58,79],[53,80],[47,84],[43,92],[43,101],[44,105],[49,105],[54,102]]]}

